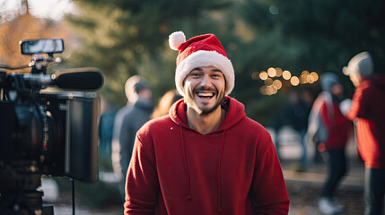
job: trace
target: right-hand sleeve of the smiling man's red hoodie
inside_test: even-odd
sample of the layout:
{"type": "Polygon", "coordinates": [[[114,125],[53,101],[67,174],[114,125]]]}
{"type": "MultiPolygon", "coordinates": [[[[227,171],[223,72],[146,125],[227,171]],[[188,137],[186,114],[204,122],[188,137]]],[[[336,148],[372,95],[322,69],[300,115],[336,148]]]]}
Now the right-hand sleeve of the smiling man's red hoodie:
{"type": "Polygon", "coordinates": [[[258,141],[252,194],[257,214],[287,214],[289,211],[284,175],[269,133],[258,141]]]}

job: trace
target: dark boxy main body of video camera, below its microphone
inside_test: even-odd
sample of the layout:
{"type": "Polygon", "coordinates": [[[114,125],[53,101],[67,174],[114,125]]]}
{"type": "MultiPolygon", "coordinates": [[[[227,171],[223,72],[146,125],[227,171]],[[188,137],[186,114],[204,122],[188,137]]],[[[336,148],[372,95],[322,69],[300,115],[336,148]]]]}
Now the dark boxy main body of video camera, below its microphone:
{"type": "Polygon", "coordinates": [[[0,162],[22,174],[96,181],[99,106],[96,93],[83,91],[0,102],[0,162]]]}

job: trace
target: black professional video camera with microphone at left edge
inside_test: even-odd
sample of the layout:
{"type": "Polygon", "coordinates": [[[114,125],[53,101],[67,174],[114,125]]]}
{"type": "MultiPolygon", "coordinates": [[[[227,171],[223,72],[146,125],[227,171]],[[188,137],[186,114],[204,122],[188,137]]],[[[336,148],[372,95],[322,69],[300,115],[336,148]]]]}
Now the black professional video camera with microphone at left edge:
{"type": "Polygon", "coordinates": [[[41,176],[98,179],[97,68],[47,74],[63,39],[21,41],[28,65],[0,64],[0,214],[53,214],[43,205],[41,176]],[[5,73],[31,67],[31,73],[5,73]],[[66,91],[48,91],[53,86],[66,91]],[[71,91],[72,90],[72,91],[71,91]],[[79,90],[79,91],[76,91],[79,90]]]}

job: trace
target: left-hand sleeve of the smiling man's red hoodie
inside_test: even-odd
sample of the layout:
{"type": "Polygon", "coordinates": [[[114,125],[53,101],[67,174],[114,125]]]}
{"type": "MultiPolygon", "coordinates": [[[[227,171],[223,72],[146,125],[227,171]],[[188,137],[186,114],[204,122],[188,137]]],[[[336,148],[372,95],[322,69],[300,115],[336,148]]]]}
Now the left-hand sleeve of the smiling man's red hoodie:
{"type": "MultiPolygon", "coordinates": [[[[148,150],[148,149],[147,149],[148,150]]],[[[153,156],[136,137],[127,170],[125,214],[153,214],[158,204],[160,185],[153,156]]]]}

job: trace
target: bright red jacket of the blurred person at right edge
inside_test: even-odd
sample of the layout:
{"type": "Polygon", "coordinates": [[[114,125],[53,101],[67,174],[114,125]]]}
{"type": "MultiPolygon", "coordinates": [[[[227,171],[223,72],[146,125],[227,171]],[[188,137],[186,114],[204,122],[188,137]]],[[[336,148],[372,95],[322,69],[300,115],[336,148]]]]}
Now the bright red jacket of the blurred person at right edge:
{"type": "Polygon", "coordinates": [[[385,76],[364,80],[355,89],[347,117],[358,118],[357,145],[365,168],[385,168],[385,76]]]}

